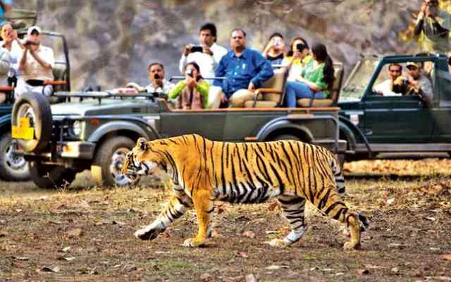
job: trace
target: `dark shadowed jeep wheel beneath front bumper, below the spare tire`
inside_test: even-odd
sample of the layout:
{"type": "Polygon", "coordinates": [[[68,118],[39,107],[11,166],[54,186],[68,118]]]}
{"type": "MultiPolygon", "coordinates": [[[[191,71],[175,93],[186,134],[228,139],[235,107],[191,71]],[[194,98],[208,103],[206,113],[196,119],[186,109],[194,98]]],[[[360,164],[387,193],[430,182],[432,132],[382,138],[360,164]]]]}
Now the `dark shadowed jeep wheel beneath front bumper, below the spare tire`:
{"type": "Polygon", "coordinates": [[[77,175],[77,171],[63,166],[42,164],[39,161],[30,161],[29,164],[31,180],[43,189],[66,188],[77,175]]]}

